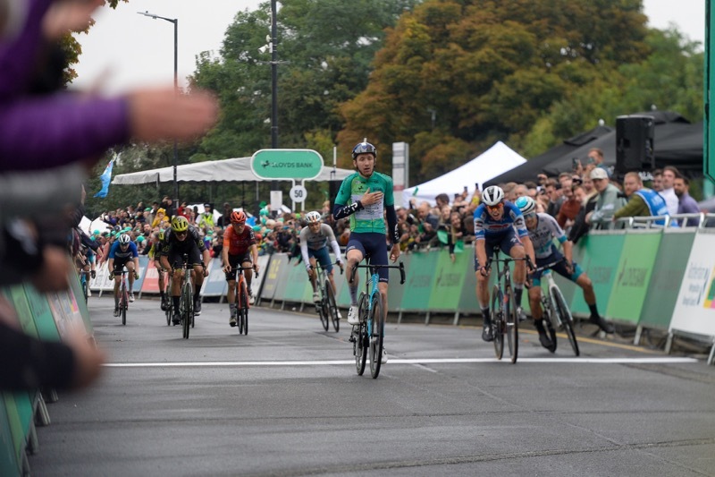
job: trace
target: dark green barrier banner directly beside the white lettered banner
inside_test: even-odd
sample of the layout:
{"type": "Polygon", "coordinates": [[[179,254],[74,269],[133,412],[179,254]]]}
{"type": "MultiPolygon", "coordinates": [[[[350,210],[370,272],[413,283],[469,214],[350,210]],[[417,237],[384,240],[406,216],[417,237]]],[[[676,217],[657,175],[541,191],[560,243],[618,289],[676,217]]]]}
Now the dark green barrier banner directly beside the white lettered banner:
{"type": "Polygon", "coordinates": [[[684,232],[683,229],[669,229],[663,234],[638,324],[646,328],[668,329],[694,239],[694,231],[684,232]]]}

